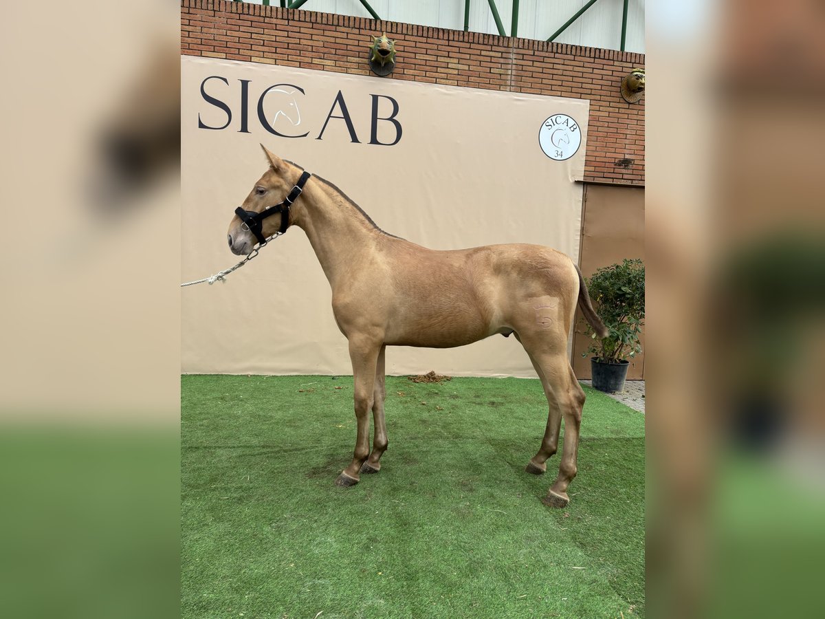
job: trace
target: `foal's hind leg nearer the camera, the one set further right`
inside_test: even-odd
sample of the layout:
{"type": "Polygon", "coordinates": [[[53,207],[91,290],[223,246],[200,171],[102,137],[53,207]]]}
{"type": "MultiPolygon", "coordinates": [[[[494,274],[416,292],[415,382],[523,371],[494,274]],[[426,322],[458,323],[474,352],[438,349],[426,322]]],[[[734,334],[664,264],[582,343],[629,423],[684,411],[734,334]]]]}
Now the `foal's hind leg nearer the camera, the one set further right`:
{"type": "MultiPolygon", "coordinates": [[[[544,347],[541,343],[538,346],[531,346],[529,341],[522,343],[528,354],[544,372],[550,391],[559,406],[561,417],[564,418],[564,442],[559,462],[559,475],[544,498],[544,504],[553,508],[563,508],[570,502],[567,489],[577,472],[578,432],[582,423],[584,391],[578,384],[568,361],[566,342],[563,346],[559,345],[559,342],[552,347],[544,347]]],[[[553,428],[550,428],[549,420],[548,427],[552,438],[553,428]]],[[[542,448],[544,448],[544,443],[542,443],[542,448]]]]}

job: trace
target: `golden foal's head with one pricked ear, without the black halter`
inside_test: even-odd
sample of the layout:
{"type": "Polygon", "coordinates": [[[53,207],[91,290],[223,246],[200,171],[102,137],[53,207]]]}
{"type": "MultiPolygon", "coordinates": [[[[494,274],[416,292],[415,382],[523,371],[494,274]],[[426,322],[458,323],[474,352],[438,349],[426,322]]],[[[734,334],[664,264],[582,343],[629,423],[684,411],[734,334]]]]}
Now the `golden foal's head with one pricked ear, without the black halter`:
{"type": "MultiPolygon", "coordinates": [[[[290,176],[289,165],[276,154],[270,153],[263,144],[261,144],[261,148],[266,154],[266,162],[269,163],[269,168],[257,180],[247,199],[241,205],[243,210],[252,213],[261,213],[263,210],[284,201],[284,198],[289,195],[290,189],[295,185],[295,178],[290,176]]],[[[263,220],[262,234],[265,237],[275,234],[281,228],[281,217],[284,216],[284,214],[277,213],[263,220]]],[[[232,221],[229,222],[227,238],[232,253],[236,253],[238,256],[250,253],[252,248],[255,247],[255,243],[258,242],[255,234],[252,234],[252,230],[248,229],[247,225],[243,225],[243,221],[238,215],[235,215],[232,221]]]]}

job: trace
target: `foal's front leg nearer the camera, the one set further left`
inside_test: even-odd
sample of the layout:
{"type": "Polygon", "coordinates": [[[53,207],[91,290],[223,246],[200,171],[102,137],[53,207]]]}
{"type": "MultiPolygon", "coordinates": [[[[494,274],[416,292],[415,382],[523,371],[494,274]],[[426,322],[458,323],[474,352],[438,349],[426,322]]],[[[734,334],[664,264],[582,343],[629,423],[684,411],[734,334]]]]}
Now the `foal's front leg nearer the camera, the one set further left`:
{"type": "Polygon", "coordinates": [[[361,465],[370,455],[370,409],[375,394],[375,369],[382,344],[370,338],[354,336],[350,338],[350,358],[352,360],[353,391],[356,408],[358,434],[352,461],[335,484],[346,488],[361,479],[361,465]]]}

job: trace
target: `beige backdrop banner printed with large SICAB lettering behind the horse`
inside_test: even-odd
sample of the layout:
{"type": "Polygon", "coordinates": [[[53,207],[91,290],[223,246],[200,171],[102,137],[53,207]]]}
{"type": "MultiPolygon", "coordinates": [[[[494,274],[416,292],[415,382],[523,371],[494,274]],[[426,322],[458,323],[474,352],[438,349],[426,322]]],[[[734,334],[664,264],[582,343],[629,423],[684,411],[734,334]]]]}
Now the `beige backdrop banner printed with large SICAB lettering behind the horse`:
{"type": "MultiPolygon", "coordinates": [[[[187,56],[181,64],[181,281],[238,261],[226,233],[266,170],[258,143],[414,243],[539,243],[578,257],[585,100],[187,56]],[[397,144],[384,145],[398,127],[397,144]]],[[[328,281],[299,228],[225,283],[181,295],[184,372],[351,374],[328,281]]],[[[388,374],[430,370],[535,376],[515,338],[498,335],[387,351],[388,374]]]]}

